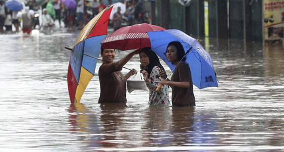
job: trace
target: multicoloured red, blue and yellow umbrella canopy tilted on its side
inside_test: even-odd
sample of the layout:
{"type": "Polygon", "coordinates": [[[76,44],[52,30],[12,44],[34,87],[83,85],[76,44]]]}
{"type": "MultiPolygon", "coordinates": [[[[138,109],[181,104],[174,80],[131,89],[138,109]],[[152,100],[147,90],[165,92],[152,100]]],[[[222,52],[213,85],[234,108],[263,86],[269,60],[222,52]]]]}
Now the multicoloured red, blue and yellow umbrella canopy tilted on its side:
{"type": "Polygon", "coordinates": [[[111,8],[105,8],[96,15],[80,32],[68,66],[67,83],[72,104],[79,103],[81,97],[95,74],[100,53],[100,42],[107,37],[111,8]]]}

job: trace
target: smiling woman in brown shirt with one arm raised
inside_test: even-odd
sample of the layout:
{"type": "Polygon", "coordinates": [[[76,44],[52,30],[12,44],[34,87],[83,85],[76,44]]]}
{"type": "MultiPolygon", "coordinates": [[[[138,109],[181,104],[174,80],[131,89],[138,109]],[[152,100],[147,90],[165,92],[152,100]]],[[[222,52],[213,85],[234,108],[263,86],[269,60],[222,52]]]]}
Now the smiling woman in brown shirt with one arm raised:
{"type": "Polygon", "coordinates": [[[100,83],[100,95],[98,103],[126,103],[126,80],[137,73],[135,69],[122,75],[122,67],[140,50],[129,53],[118,62],[114,63],[116,52],[114,49],[101,49],[100,55],[103,64],[99,67],[98,77],[100,83]]]}

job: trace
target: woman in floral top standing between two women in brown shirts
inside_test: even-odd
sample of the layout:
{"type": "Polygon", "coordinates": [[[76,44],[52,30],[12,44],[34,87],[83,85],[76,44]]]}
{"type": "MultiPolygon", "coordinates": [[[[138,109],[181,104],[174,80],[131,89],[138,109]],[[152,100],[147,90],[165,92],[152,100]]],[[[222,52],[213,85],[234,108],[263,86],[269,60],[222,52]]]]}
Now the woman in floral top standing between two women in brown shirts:
{"type": "Polygon", "coordinates": [[[159,71],[165,71],[158,56],[150,47],[141,49],[139,56],[141,63],[140,72],[143,74],[146,85],[149,88],[149,105],[170,105],[167,85],[162,86],[159,91],[155,91],[162,80],[159,76],[159,71]]]}

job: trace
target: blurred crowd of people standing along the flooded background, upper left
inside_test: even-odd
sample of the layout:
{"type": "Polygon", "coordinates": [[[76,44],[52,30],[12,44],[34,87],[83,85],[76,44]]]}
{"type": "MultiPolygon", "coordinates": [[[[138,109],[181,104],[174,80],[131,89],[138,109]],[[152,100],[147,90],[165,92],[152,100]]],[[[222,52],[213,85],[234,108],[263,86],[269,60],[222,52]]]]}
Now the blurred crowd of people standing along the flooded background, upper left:
{"type": "Polygon", "coordinates": [[[150,23],[150,13],[139,0],[0,0],[0,33],[48,33],[56,28],[81,30],[107,6],[114,6],[110,28],[150,23]],[[12,28],[13,27],[13,28],[12,28]]]}

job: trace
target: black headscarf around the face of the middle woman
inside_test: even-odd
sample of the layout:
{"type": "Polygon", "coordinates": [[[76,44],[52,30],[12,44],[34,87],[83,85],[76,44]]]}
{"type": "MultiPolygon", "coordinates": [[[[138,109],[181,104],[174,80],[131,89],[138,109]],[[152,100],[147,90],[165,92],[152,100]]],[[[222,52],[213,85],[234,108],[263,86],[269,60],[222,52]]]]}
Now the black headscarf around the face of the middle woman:
{"type": "MultiPolygon", "coordinates": [[[[166,71],[165,71],[164,67],[161,65],[158,56],[151,49],[151,47],[144,47],[144,48],[142,48],[140,53],[139,53],[139,56],[140,56],[141,52],[144,52],[147,55],[147,57],[149,58],[149,65],[147,66],[147,68],[146,69],[141,69],[141,71],[142,70],[146,70],[147,71],[148,78],[150,78],[151,71],[152,71],[152,69],[155,66],[158,66],[160,69],[162,69],[164,71],[165,75],[166,75],[166,71]]],[[[166,75],[166,77],[167,77],[167,75],[166,75]]]]}

